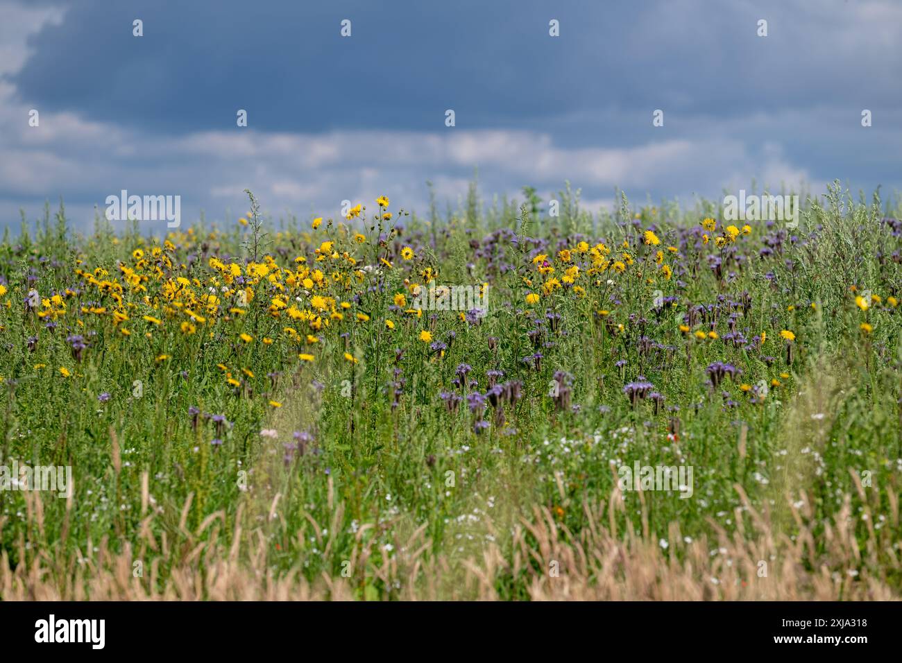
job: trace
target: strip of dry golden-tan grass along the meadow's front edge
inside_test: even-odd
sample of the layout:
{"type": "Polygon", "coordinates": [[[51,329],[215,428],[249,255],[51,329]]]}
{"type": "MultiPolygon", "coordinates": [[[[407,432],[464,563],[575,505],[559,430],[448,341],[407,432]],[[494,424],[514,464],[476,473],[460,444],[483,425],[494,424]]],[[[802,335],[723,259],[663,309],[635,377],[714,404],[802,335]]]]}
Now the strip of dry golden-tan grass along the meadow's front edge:
{"type": "MultiPolygon", "coordinates": [[[[113,554],[108,541],[97,543],[97,552],[66,561],[49,551],[25,550],[26,560],[11,569],[4,554],[0,564],[0,594],[4,600],[348,600],[359,593],[364,573],[396,589],[391,598],[401,600],[498,600],[509,598],[499,588],[527,588],[530,600],[891,600],[897,599],[887,584],[887,572],[898,573],[891,542],[870,529],[860,545],[853,536],[849,499],[841,517],[824,528],[815,541],[804,511],[788,502],[798,526],[794,539],[772,529],[769,513],[754,511],[736,486],[744,505],[736,511],[741,526],[730,537],[719,530],[716,539],[686,543],[676,522],[667,549],[640,532],[612,527],[621,503],[612,493],[608,503],[584,504],[589,525],[573,537],[550,511],[537,509],[521,519],[504,544],[492,543],[480,553],[456,557],[434,554],[423,529],[399,541],[398,554],[373,564],[372,544],[357,532],[359,555],[352,567],[362,569],[351,577],[324,574],[312,582],[299,568],[276,576],[267,559],[270,549],[265,526],[247,529],[251,520],[244,505],[232,528],[225,529],[223,515],[214,514],[196,531],[185,528],[185,518],[174,535],[151,534],[150,514],[144,520],[143,546],[127,546],[113,554]],[[605,523],[605,524],[602,524],[605,523]],[[209,530],[209,531],[207,531],[209,530]],[[205,540],[200,540],[201,535],[205,540]],[[133,576],[133,562],[146,560],[143,576],[133,576]],[[893,560],[887,565],[886,560],[893,560]],[[760,562],[767,561],[767,576],[759,576],[760,562]],[[557,565],[553,564],[557,562],[557,565]],[[557,566],[555,576],[552,569],[557,566]],[[163,569],[168,569],[163,573],[163,569]],[[508,582],[505,582],[508,581],[508,582]]],[[[892,499],[892,498],[891,498],[892,499]]],[[[40,493],[29,495],[29,517],[36,533],[42,528],[40,493]]],[[[889,517],[898,518],[897,500],[889,517]]],[[[336,505],[336,513],[340,505],[336,505]]],[[[182,511],[187,514],[189,505],[182,511]]],[[[311,523],[316,536],[322,529],[311,523]]],[[[492,521],[485,527],[492,529],[492,521]]],[[[403,528],[399,527],[396,531],[403,528]]],[[[330,531],[335,531],[331,529],[330,531]]],[[[0,520],[0,537],[3,520],[0,520]]],[[[299,536],[306,536],[308,532],[299,536]]],[[[329,548],[329,539],[322,538],[329,548]]],[[[517,597],[515,597],[517,598],[517,597]]]]}

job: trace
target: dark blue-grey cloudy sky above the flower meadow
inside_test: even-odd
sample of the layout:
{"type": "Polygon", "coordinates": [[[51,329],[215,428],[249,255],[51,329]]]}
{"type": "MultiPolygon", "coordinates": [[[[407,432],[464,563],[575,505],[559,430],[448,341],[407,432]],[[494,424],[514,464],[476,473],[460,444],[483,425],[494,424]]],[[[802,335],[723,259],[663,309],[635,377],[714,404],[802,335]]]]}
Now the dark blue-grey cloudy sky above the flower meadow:
{"type": "Polygon", "coordinates": [[[87,227],[121,189],[181,196],[183,222],[234,219],[245,188],[277,216],[424,210],[474,169],[486,200],[569,180],[594,209],[886,195],[900,82],[899,0],[0,0],[0,227],[60,196],[87,227]]]}

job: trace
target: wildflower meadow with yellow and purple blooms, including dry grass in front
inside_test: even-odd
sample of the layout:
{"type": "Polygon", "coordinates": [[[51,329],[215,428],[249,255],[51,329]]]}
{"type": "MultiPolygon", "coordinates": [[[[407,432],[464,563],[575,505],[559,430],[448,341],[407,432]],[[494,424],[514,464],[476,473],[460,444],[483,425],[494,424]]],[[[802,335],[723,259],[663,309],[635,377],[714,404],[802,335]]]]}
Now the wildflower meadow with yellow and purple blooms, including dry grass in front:
{"type": "Polygon", "coordinates": [[[899,201],[559,198],[5,236],[0,597],[897,597],[899,201]]]}

